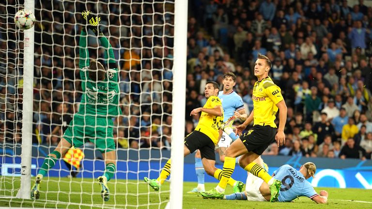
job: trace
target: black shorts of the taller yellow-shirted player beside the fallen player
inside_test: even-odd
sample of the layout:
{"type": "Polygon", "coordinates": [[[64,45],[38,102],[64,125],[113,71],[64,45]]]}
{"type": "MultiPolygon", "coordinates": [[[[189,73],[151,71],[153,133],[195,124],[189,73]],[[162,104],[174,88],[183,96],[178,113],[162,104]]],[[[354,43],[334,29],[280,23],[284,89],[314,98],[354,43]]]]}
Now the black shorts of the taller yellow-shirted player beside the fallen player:
{"type": "Polygon", "coordinates": [[[263,151],[275,141],[277,129],[271,126],[255,125],[240,137],[248,151],[262,155],[263,151]]]}

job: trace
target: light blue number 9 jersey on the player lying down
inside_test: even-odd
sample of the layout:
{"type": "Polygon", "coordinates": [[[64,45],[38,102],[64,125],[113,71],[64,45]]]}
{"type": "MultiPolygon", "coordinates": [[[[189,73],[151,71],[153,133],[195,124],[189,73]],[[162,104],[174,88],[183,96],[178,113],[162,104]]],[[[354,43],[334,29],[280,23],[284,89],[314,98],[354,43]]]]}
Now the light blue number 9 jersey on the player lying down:
{"type": "Polygon", "coordinates": [[[278,179],[282,183],[278,196],[279,202],[291,202],[300,196],[312,199],[319,195],[304,175],[291,165],[280,166],[278,170],[274,171],[274,175],[274,179],[278,179]]]}

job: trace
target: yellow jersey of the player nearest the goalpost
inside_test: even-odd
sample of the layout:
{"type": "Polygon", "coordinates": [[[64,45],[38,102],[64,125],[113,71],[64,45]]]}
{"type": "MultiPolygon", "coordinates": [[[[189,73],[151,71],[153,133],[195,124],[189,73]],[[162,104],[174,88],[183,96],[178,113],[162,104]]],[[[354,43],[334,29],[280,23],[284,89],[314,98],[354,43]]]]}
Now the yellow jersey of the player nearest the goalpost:
{"type": "MultiPolygon", "coordinates": [[[[221,100],[217,96],[210,96],[204,104],[204,108],[212,109],[216,106],[221,106],[221,100]]],[[[223,122],[223,109],[221,108],[222,116],[212,116],[208,113],[202,112],[199,123],[195,130],[209,136],[215,145],[218,143],[218,126],[223,122]]]]}

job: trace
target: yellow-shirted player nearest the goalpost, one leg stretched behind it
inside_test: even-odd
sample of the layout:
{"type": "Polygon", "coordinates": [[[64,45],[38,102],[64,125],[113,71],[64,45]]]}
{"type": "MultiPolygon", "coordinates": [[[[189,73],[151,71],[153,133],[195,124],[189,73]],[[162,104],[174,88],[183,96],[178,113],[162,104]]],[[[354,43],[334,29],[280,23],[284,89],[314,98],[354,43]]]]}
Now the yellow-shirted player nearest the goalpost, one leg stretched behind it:
{"type": "MultiPolygon", "coordinates": [[[[215,146],[218,143],[218,138],[221,134],[218,126],[223,121],[223,109],[221,100],[218,95],[218,84],[213,81],[208,81],[204,88],[205,98],[207,102],[203,107],[193,109],[190,115],[199,114],[199,123],[195,130],[185,137],[184,156],[199,149],[202,156],[202,164],[208,175],[221,179],[222,170],[215,167],[216,154],[215,146]]],[[[171,159],[164,165],[160,176],[157,179],[144,178],[155,191],[159,190],[164,180],[171,174],[171,159]]],[[[236,181],[232,178],[228,179],[229,185],[233,186],[233,191],[241,192],[243,189],[243,182],[236,181]]]]}

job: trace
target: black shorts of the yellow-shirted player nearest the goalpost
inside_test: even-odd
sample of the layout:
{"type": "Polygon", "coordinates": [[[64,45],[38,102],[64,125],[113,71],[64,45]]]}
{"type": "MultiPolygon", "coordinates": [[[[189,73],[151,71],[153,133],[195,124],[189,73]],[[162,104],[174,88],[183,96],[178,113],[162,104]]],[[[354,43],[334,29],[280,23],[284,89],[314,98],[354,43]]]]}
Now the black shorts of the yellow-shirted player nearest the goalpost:
{"type": "Polygon", "coordinates": [[[191,134],[188,134],[185,137],[185,146],[190,150],[190,153],[199,149],[202,159],[216,160],[215,143],[202,132],[194,130],[191,134]]]}

